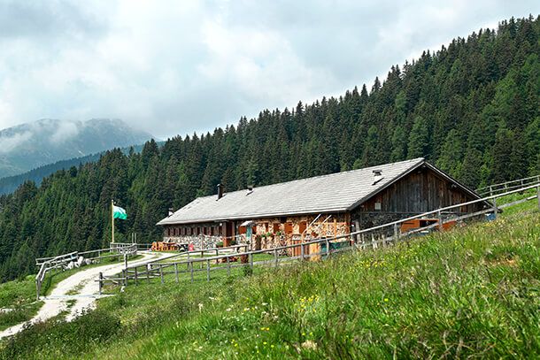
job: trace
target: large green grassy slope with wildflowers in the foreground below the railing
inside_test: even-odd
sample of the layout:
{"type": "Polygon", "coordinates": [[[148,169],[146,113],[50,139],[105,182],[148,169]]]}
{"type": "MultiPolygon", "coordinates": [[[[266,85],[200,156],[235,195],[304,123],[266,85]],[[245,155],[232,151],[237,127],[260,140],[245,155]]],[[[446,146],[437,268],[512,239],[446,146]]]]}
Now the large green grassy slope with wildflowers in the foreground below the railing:
{"type": "Polygon", "coordinates": [[[540,356],[540,214],[206,282],[129,286],[0,358],[540,356]]]}

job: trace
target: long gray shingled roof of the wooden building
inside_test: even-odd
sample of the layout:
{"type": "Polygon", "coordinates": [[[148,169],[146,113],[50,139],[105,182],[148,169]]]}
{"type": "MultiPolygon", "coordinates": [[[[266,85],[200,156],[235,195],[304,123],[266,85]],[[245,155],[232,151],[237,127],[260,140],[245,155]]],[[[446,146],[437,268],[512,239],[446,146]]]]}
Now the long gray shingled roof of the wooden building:
{"type": "MultiPolygon", "coordinates": [[[[349,172],[293,180],[248,190],[198,197],[158,225],[350,211],[392,182],[427,164],[423,157],[349,172]],[[374,170],[382,180],[374,184],[374,170]]],[[[432,166],[430,166],[432,167],[432,166]]]]}

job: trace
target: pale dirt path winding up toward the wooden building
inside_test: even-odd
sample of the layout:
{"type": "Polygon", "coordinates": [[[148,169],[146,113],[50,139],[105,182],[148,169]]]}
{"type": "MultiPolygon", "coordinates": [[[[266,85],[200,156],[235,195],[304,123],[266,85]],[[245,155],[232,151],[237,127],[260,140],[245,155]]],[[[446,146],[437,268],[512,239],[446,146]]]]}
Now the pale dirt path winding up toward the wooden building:
{"type": "MultiPolygon", "coordinates": [[[[171,256],[171,254],[150,253],[146,251],[140,251],[139,254],[143,255],[142,259],[130,261],[128,264],[144,264],[150,260],[171,256]]],[[[50,295],[40,298],[43,301],[43,305],[34,318],[24,323],[8,327],[3,332],[0,332],[0,339],[19,333],[26,324],[45,321],[57,316],[62,311],[69,311],[66,315],[66,321],[71,321],[80,315],[82,310],[93,309],[96,306],[96,299],[100,297],[98,295],[99,285],[95,281],[99,276],[99,272],[103,272],[104,276],[112,276],[121,272],[123,268],[124,264],[121,263],[96,266],[88,270],[75,272],[66,280],[60,281],[57,287],[50,292],[50,295]],[[70,293],[75,293],[76,295],[68,295],[70,293]],[[68,301],[70,300],[75,301],[71,307],[68,306],[68,301]]]]}

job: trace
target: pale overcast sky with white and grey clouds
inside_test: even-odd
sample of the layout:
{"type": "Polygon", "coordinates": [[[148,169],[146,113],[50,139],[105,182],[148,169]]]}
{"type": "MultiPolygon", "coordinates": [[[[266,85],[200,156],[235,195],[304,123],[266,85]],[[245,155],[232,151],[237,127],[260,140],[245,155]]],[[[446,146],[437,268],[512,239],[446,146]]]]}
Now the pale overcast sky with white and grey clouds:
{"type": "Polygon", "coordinates": [[[160,138],[339,96],[540,2],[0,0],[0,128],[120,118],[160,138]]]}

